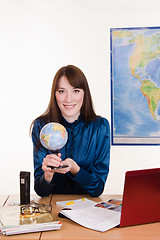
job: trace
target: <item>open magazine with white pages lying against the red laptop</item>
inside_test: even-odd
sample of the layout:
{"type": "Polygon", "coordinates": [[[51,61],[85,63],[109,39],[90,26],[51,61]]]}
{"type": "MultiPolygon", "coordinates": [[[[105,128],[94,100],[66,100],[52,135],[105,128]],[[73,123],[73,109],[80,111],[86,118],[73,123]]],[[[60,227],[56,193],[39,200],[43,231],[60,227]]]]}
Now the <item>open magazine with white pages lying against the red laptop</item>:
{"type": "Polygon", "coordinates": [[[92,230],[104,232],[120,224],[121,205],[119,201],[96,203],[87,198],[57,202],[64,207],[60,211],[65,217],[92,230]]]}

